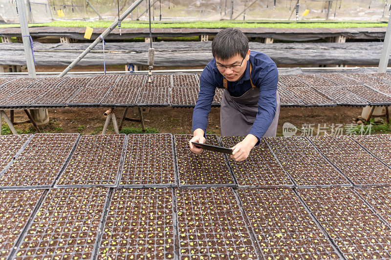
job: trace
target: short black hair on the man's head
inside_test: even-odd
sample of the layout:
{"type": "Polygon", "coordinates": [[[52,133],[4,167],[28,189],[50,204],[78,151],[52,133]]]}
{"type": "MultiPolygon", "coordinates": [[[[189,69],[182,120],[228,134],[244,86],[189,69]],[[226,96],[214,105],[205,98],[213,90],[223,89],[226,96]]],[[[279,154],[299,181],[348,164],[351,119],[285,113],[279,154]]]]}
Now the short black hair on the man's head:
{"type": "Polygon", "coordinates": [[[248,52],[248,39],[238,29],[225,28],[217,33],[212,42],[213,57],[228,60],[239,54],[242,58],[248,52]]]}

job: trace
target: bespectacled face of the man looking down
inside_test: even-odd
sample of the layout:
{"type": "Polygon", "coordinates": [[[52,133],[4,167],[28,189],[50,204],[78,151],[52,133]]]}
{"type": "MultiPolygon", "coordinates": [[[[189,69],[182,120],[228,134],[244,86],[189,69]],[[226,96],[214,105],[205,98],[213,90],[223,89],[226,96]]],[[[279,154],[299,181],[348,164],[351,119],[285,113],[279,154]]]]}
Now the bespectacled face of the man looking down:
{"type": "Polygon", "coordinates": [[[244,57],[244,59],[239,54],[231,57],[228,60],[220,60],[216,58],[217,69],[228,81],[237,81],[243,76],[244,71],[246,70],[247,61],[250,58],[249,55],[250,55],[250,50],[248,50],[248,53],[244,57]],[[241,66],[239,66],[240,64],[241,66]],[[225,67],[233,66],[233,67],[225,68],[221,66],[225,66],[225,67]]]}

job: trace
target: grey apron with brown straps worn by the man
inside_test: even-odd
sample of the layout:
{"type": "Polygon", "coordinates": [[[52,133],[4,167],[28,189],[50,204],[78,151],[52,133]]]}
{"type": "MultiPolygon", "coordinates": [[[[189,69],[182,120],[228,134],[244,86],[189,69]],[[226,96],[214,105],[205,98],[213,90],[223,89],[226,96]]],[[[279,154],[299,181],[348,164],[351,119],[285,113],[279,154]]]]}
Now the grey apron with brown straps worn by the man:
{"type": "MultiPolygon", "coordinates": [[[[226,88],[227,82],[223,82],[223,85],[226,88]]],[[[260,89],[255,87],[253,82],[251,82],[251,85],[253,87],[240,97],[232,97],[227,89],[224,90],[220,107],[221,136],[246,136],[250,132],[258,114],[258,100],[260,95],[260,89]]],[[[276,136],[280,115],[280,103],[280,95],[277,91],[276,115],[263,137],[276,136]]]]}

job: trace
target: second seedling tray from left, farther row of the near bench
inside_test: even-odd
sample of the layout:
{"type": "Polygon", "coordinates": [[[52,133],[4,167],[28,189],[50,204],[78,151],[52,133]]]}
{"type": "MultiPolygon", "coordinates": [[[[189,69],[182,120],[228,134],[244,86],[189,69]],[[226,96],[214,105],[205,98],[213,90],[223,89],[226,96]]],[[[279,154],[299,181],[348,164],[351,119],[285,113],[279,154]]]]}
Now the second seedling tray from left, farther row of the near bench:
{"type": "Polygon", "coordinates": [[[3,171],[0,187],[52,187],[64,168],[79,134],[36,134],[22,153],[3,171]]]}

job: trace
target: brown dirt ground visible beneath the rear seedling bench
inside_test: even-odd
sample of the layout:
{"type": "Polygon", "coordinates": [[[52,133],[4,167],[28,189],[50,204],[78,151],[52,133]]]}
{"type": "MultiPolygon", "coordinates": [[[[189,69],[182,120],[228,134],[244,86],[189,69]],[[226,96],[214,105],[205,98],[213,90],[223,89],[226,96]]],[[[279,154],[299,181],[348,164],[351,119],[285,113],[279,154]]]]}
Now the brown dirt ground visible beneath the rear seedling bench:
{"type": "MultiPolygon", "coordinates": [[[[122,118],[124,108],[116,108],[114,112],[118,120],[122,118]]],[[[103,113],[105,108],[65,108],[49,109],[49,124],[42,126],[43,132],[50,133],[81,133],[100,134],[105,123],[103,113]]],[[[282,125],[289,122],[298,129],[308,124],[313,124],[314,134],[318,124],[323,127],[326,124],[328,131],[332,125],[342,124],[347,126],[354,123],[353,118],[361,115],[362,108],[332,107],[332,108],[286,108],[282,107],[279,118],[277,136],[282,136],[282,125]]],[[[193,108],[160,107],[149,108],[143,112],[145,126],[154,128],[159,133],[191,134],[192,133],[193,108]]],[[[220,135],[220,109],[212,108],[208,120],[207,132],[220,135]]],[[[136,108],[129,109],[128,117],[138,118],[136,108]]],[[[27,120],[22,110],[15,111],[15,121],[27,120]]],[[[119,123],[119,122],[118,122],[119,123]]],[[[19,129],[26,132],[34,132],[30,124],[18,125],[19,129]]],[[[140,128],[138,122],[125,121],[124,127],[140,128]]],[[[112,124],[109,125],[108,134],[114,133],[112,124]]],[[[300,135],[300,131],[296,135],[300,135]]]]}

